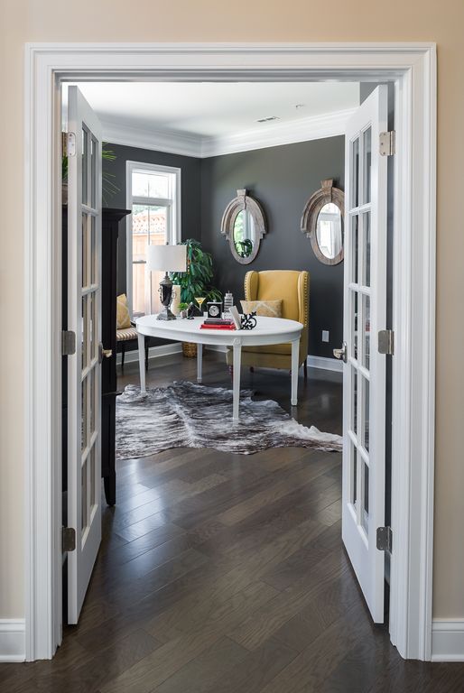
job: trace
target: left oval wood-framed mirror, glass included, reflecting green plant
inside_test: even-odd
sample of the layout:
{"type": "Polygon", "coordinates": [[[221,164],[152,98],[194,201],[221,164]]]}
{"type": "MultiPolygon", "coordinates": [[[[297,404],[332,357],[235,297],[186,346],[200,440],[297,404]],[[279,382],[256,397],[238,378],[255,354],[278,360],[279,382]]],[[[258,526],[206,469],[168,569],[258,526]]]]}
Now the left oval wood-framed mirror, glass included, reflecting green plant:
{"type": "Polygon", "coordinates": [[[221,221],[221,234],[226,236],[237,263],[255,260],[261,239],[267,233],[264,209],[256,199],[237,190],[237,198],[228,203],[221,221]]]}

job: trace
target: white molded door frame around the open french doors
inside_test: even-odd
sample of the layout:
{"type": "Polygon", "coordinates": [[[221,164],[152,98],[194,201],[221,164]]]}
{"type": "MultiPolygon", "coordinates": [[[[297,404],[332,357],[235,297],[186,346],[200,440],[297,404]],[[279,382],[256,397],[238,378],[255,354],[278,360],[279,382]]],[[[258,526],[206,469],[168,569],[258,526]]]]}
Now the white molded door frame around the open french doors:
{"type": "Polygon", "coordinates": [[[433,43],[25,47],[26,659],[60,643],[60,80],[395,80],[390,635],[430,660],[435,411],[433,43]]]}

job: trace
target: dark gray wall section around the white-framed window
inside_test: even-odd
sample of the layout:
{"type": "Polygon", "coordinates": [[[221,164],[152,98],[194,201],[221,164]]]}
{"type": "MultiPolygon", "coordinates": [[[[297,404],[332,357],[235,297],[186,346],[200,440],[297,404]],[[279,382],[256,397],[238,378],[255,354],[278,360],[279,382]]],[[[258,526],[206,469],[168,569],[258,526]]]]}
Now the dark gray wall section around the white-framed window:
{"type": "MultiPolygon", "coordinates": [[[[115,162],[103,160],[103,171],[115,176],[112,178],[119,190],[116,195],[107,197],[107,207],[125,209],[125,162],[158,163],[162,166],[176,166],[181,169],[181,228],[182,239],[200,239],[200,159],[179,156],[166,152],[153,152],[148,149],[126,147],[122,144],[107,144],[107,149],[116,154],[115,162]]],[[[120,225],[117,245],[117,292],[126,291],[125,273],[125,224],[120,225]]]]}

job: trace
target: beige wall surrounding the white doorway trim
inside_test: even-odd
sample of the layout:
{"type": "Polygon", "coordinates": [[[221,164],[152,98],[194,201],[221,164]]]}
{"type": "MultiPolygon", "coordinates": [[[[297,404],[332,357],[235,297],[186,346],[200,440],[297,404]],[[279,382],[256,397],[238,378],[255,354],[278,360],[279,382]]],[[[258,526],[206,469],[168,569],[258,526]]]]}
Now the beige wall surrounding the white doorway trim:
{"type": "Polygon", "coordinates": [[[23,42],[434,41],[439,54],[434,615],[464,618],[464,5],[461,0],[2,0],[0,616],[23,614],[23,42]],[[163,11],[166,6],[167,11],[163,11]]]}

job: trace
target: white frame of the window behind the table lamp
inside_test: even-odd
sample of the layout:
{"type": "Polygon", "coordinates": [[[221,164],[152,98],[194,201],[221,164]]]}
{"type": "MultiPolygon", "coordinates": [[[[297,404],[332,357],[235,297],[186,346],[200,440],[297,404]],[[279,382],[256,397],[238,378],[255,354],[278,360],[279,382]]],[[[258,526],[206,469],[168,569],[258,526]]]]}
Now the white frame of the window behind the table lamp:
{"type": "MultiPolygon", "coordinates": [[[[133,205],[158,205],[166,207],[170,213],[167,218],[168,242],[171,245],[181,243],[181,169],[174,166],[162,166],[158,163],[148,162],[125,162],[125,199],[127,209],[132,212],[133,205]],[[170,176],[170,198],[144,198],[132,194],[132,174],[140,171],[141,173],[161,173],[170,176]]],[[[131,318],[134,317],[132,305],[132,214],[126,217],[125,227],[125,277],[127,305],[131,318]]]]}

